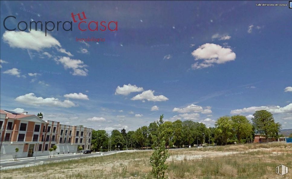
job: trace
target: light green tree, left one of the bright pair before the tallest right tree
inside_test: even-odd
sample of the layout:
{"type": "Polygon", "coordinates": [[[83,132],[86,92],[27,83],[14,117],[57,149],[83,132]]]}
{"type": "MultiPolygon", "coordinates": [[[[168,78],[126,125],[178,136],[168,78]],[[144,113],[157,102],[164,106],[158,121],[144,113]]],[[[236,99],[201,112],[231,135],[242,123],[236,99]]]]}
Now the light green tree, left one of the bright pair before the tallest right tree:
{"type": "Polygon", "coordinates": [[[232,137],[232,120],[229,116],[220,117],[215,123],[215,135],[216,138],[222,140],[222,142],[226,145],[227,140],[232,137]]]}

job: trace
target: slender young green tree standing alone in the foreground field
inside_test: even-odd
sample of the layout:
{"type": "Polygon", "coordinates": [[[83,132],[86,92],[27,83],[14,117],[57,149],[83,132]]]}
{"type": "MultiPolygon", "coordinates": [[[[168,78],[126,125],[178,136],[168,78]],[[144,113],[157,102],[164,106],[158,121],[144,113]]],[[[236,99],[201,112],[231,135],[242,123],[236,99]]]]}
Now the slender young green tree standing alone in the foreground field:
{"type": "Polygon", "coordinates": [[[168,151],[165,147],[165,135],[163,134],[163,115],[160,116],[157,123],[157,134],[153,135],[153,153],[150,157],[150,163],[152,165],[152,174],[154,178],[167,178],[165,176],[165,170],[167,169],[167,164],[165,164],[166,159],[169,157],[168,151]]]}

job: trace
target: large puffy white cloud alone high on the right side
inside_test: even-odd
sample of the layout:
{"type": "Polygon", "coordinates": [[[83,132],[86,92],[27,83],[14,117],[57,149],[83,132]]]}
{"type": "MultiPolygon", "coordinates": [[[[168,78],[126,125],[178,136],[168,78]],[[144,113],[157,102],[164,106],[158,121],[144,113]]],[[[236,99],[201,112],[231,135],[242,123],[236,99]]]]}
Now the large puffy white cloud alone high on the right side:
{"type": "Polygon", "coordinates": [[[206,43],[192,52],[195,60],[203,60],[202,63],[196,62],[192,69],[207,68],[214,63],[222,64],[235,60],[236,54],[230,48],[224,48],[220,45],[206,43]]]}

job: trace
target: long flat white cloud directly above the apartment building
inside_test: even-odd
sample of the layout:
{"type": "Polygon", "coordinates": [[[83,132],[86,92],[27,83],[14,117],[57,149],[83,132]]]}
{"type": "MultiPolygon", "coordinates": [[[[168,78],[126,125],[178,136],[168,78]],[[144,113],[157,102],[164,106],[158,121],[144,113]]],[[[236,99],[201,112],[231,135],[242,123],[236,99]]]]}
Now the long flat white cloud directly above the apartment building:
{"type": "Polygon", "coordinates": [[[23,96],[18,96],[15,98],[16,101],[24,104],[34,105],[34,106],[57,106],[57,107],[73,107],[76,106],[70,100],[61,101],[54,97],[43,98],[43,97],[36,97],[34,93],[28,93],[23,96]]]}

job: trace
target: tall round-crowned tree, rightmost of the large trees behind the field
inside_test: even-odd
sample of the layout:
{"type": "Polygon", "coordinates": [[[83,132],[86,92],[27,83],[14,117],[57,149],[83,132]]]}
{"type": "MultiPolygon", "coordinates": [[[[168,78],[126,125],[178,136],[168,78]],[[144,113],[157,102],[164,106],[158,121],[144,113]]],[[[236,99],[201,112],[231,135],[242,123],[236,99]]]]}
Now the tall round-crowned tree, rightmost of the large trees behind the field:
{"type": "Polygon", "coordinates": [[[259,110],[253,116],[251,121],[256,133],[264,135],[266,139],[268,137],[277,137],[282,127],[280,123],[275,123],[272,113],[267,110],[259,110]]]}

